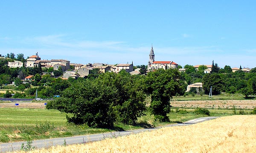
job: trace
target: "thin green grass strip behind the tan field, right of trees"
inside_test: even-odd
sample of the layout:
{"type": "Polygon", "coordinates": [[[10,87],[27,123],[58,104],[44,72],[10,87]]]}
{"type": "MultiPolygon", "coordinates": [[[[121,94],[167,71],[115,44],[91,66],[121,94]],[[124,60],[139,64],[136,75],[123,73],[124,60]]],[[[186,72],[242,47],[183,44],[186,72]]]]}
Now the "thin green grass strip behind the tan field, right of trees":
{"type": "MultiPolygon", "coordinates": [[[[255,99],[255,97],[250,97],[250,99],[255,99]]],[[[173,96],[172,101],[186,101],[186,100],[246,100],[242,94],[227,94],[222,93],[220,95],[212,95],[209,98],[209,95],[188,95],[188,96],[173,96]]]]}

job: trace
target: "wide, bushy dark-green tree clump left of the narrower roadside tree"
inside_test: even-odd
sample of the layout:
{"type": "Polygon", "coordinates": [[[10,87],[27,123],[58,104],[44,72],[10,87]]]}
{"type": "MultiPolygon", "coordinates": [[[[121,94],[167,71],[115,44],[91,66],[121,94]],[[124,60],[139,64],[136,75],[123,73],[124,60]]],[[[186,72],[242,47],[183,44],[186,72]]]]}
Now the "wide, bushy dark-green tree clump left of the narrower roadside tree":
{"type": "Polygon", "coordinates": [[[107,72],[81,80],[48,105],[68,114],[68,122],[90,127],[113,127],[114,122],[135,123],[145,111],[141,86],[125,71],[107,72]]]}

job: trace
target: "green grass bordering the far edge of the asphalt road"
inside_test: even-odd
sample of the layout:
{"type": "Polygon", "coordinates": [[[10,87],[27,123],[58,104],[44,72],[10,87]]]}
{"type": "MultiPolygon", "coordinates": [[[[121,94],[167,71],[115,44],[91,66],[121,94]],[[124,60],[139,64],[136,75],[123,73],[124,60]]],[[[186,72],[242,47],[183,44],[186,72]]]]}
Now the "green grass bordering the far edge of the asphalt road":
{"type": "MultiPolygon", "coordinates": [[[[182,108],[183,109],[183,108],[182,108]]],[[[194,109],[186,109],[186,113],[177,113],[172,109],[168,114],[171,122],[160,123],[154,121],[154,116],[146,112],[138,119],[136,125],[116,123],[113,129],[91,128],[87,125],[73,125],[66,122],[66,114],[57,110],[28,109],[28,108],[1,108],[0,109],[0,142],[26,141],[28,137],[34,139],[48,139],[105,133],[111,131],[134,130],[152,128],[175,123],[186,122],[190,119],[205,117],[195,115],[194,109]]],[[[211,116],[233,115],[232,110],[210,110],[211,116]]]]}

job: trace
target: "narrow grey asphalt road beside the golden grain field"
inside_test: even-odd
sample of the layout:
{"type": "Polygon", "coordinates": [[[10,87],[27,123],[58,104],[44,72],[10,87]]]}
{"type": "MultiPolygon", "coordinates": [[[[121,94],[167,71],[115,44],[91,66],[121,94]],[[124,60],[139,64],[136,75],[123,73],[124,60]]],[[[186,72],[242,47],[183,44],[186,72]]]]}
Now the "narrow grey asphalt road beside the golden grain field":
{"type": "MultiPolygon", "coordinates": [[[[202,117],[199,119],[193,119],[185,123],[181,124],[173,124],[173,125],[166,125],[164,127],[173,127],[173,126],[184,126],[184,125],[191,125],[196,124],[199,122],[208,121],[211,119],[216,119],[217,116],[213,117],[202,117]]],[[[84,136],[73,136],[73,137],[64,137],[64,138],[54,138],[54,139],[43,139],[43,140],[34,140],[32,141],[32,146],[35,148],[43,148],[43,147],[51,147],[56,145],[63,145],[64,142],[66,144],[80,144],[80,143],[86,143],[86,142],[93,142],[93,141],[99,141],[105,138],[114,138],[117,136],[126,136],[129,134],[136,134],[143,131],[151,131],[156,130],[162,127],[156,127],[151,129],[138,129],[138,130],[129,130],[129,131],[120,131],[120,132],[112,132],[112,133],[101,133],[101,134],[92,134],[92,135],[84,135],[84,136]]],[[[5,153],[7,151],[15,151],[20,150],[21,145],[25,144],[27,142],[13,142],[13,143],[3,143],[0,144],[0,153],[5,153]]]]}

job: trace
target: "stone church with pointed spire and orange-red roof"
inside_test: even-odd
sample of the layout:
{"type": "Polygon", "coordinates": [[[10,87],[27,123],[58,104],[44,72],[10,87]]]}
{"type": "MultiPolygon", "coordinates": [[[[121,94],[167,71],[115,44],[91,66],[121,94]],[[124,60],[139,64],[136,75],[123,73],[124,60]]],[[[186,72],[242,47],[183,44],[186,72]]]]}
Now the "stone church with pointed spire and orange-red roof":
{"type": "Polygon", "coordinates": [[[153,71],[153,70],[157,70],[158,68],[163,68],[165,70],[169,68],[178,68],[178,64],[173,61],[155,61],[153,45],[151,45],[151,50],[149,53],[149,60],[148,60],[148,70],[153,71]]]}

